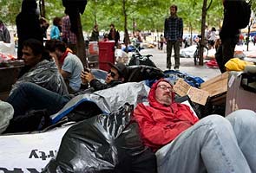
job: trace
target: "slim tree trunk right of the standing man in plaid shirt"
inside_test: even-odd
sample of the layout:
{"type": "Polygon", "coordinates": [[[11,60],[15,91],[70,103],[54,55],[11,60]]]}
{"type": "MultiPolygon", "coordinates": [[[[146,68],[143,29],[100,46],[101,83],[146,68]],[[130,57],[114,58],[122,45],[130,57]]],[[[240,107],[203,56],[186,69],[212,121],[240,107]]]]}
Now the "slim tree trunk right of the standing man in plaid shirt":
{"type": "Polygon", "coordinates": [[[206,45],[205,42],[205,28],[206,28],[206,16],[207,16],[207,0],[204,0],[203,7],[202,7],[202,19],[201,19],[201,39],[200,39],[200,49],[199,49],[199,54],[200,54],[200,61],[199,65],[203,66],[204,65],[204,59],[203,59],[203,54],[204,54],[204,47],[206,45]]]}

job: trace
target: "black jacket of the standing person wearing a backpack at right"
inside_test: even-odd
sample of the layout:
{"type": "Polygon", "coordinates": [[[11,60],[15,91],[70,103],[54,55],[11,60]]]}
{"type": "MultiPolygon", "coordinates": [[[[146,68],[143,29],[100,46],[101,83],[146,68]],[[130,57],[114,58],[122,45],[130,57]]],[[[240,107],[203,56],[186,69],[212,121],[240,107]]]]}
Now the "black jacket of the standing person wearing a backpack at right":
{"type": "Polygon", "coordinates": [[[236,13],[240,8],[241,0],[225,0],[224,2],[224,20],[220,29],[220,39],[233,38],[239,35],[240,31],[236,26],[236,13]]]}

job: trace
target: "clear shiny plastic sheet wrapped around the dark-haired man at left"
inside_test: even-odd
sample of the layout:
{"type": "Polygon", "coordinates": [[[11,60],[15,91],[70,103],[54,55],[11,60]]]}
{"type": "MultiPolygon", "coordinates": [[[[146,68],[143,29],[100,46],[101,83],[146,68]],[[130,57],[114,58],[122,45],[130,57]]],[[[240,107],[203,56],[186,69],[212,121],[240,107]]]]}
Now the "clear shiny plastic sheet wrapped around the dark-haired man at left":
{"type": "Polygon", "coordinates": [[[68,94],[68,89],[62,74],[58,72],[58,68],[54,61],[43,60],[32,67],[29,72],[23,74],[15,84],[13,84],[10,94],[23,82],[32,82],[39,86],[59,93],[61,95],[68,94]]]}

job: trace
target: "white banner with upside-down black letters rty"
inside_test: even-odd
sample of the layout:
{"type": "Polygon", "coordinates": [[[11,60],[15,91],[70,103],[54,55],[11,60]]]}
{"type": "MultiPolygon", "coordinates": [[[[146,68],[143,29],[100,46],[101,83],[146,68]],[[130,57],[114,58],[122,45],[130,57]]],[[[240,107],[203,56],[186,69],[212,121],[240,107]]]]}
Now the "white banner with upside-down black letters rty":
{"type": "Polygon", "coordinates": [[[41,172],[56,156],[69,127],[43,133],[0,136],[0,173],[41,172]]]}

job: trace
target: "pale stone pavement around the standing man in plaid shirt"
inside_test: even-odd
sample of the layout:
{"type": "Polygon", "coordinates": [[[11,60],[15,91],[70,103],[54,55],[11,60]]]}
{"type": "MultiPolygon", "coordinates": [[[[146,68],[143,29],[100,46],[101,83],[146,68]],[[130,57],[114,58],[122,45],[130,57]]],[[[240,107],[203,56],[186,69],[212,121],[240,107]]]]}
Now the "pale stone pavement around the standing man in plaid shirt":
{"type": "MultiPolygon", "coordinates": [[[[159,67],[161,70],[167,70],[167,53],[163,50],[159,50],[158,48],[147,48],[142,49],[141,54],[152,54],[153,57],[151,57],[150,60],[154,61],[156,67],[159,67]]],[[[194,66],[193,58],[181,58],[180,61],[180,71],[182,73],[198,76],[205,81],[220,74],[219,68],[209,68],[205,63],[204,66],[194,66]]],[[[172,64],[174,65],[174,57],[172,57],[172,64]]]]}

